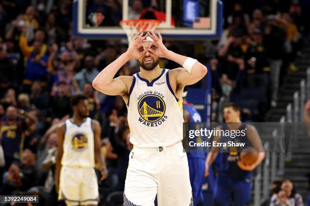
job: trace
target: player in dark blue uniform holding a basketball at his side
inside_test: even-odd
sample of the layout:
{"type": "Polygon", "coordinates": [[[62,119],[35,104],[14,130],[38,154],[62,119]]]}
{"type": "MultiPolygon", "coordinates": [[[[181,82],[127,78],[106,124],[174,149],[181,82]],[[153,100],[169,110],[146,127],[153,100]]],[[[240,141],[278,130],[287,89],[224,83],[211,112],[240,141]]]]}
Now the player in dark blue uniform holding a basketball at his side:
{"type": "MultiPolygon", "coordinates": [[[[245,135],[235,138],[228,135],[215,136],[217,142],[244,142],[245,147],[251,146],[259,151],[258,159],[253,165],[245,165],[240,159],[237,147],[222,146],[212,147],[206,160],[206,171],[214,162],[221,149],[221,157],[218,168],[218,177],[214,189],[214,204],[228,206],[231,201],[234,205],[247,205],[250,201],[252,171],[262,162],[265,157],[262,142],[254,126],[244,124],[240,120],[240,107],[235,103],[229,103],[224,107],[224,119],[227,124],[218,127],[219,130],[240,130],[245,135]]],[[[227,144],[228,145],[228,144],[227,144]]],[[[206,172],[205,176],[208,175],[206,172]]]]}

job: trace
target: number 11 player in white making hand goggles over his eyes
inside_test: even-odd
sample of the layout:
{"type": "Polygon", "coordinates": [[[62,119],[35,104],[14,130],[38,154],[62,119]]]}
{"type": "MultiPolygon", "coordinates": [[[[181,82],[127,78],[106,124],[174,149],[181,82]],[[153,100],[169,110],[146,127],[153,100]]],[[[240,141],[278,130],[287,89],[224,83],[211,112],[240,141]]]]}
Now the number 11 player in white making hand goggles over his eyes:
{"type": "Polygon", "coordinates": [[[160,33],[135,36],[126,53],[104,68],[93,81],[98,91],[122,95],[128,106],[130,142],[124,205],[192,205],[186,153],[183,152],[182,93],[207,73],[197,60],[168,50],[160,33]],[[161,69],[159,58],[183,68],[161,69]],[[137,59],[140,72],[114,78],[129,60],[137,59]]]}

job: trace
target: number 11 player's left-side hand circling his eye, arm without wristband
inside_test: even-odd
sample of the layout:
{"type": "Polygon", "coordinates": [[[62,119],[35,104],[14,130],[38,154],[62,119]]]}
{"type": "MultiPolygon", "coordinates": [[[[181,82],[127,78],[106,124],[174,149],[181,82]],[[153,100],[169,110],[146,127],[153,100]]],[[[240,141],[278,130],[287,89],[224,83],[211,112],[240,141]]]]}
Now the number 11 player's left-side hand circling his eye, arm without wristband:
{"type": "Polygon", "coordinates": [[[146,53],[146,48],[143,47],[142,41],[145,40],[147,37],[147,34],[143,36],[143,33],[141,32],[139,35],[135,36],[132,39],[131,44],[129,45],[129,48],[127,50],[127,55],[130,59],[138,59],[142,55],[146,53]]]}

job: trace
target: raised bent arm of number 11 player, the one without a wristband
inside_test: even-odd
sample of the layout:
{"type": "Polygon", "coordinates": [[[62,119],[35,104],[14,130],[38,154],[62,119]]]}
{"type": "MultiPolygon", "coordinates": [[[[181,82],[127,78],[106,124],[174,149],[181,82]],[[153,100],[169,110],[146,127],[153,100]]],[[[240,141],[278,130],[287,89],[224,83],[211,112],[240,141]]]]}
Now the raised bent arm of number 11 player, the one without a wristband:
{"type": "Polygon", "coordinates": [[[138,59],[146,53],[146,50],[141,49],[142,41],[146,39],[147,35],[143,33],[137,35],[132,40],[127,52],[122,54],[118,59],[106,66],[93,80],[93,87],[98,91],[107,95],[123,95],[129,92],[129,87],[133,81],[131,76],[120,76],[114,78],[117,72],[129,60],[138,59]]]}

